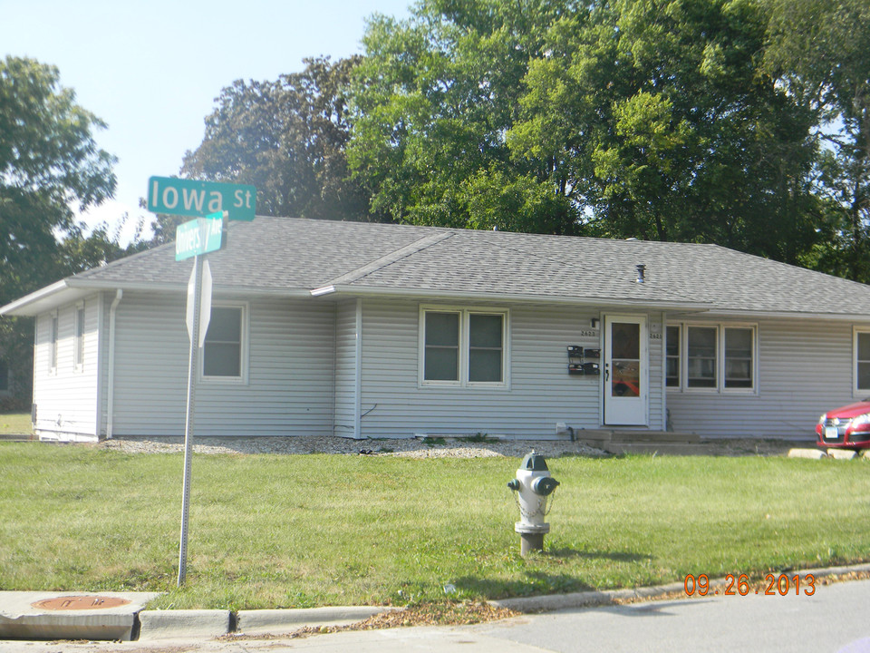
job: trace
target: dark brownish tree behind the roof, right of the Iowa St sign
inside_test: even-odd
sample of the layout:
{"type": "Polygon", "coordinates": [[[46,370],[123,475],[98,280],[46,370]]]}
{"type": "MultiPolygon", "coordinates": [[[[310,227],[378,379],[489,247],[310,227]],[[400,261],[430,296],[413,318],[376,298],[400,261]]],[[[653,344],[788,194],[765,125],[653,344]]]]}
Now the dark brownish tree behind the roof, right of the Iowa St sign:
{"type": "Polygon", "coordinates": [[[344,154],[345,91],[359,57],[304,61],[302,73],[276,82],[225,88],[182,175],[256,186],[261,215],[362,219],[367,198],[349,179],[344,154]]]}

